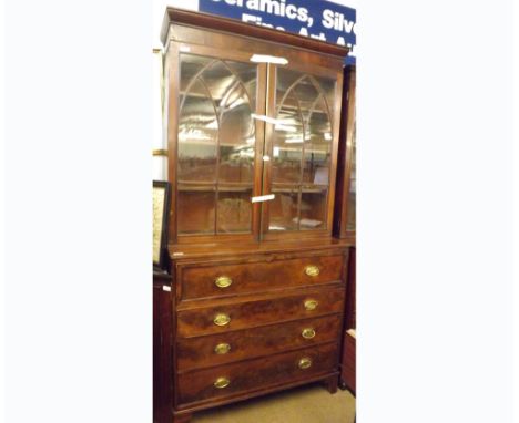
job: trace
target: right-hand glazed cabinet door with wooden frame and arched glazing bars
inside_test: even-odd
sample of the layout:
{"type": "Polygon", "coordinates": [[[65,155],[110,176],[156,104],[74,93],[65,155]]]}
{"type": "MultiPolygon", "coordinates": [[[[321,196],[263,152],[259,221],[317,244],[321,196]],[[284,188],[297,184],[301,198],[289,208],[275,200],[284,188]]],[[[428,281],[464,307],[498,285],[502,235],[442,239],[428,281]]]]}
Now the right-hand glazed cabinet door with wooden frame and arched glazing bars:
{"type": "Polygon", "coordinates": [[[268,68],[265,239],[330,234],[342,70],[317,70],[268,68]]]}

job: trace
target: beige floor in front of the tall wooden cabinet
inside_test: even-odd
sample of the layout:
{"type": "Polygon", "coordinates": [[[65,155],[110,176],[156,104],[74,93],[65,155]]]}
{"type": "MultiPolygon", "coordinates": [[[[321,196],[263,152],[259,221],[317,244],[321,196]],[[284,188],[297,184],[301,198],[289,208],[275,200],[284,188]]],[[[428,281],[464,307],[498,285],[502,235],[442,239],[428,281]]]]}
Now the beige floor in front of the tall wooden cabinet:
{"type": "Polygon", "coordinates": [[[355,398],[313,384],[199,412],[192,423],[353,423],[355,398]]]}

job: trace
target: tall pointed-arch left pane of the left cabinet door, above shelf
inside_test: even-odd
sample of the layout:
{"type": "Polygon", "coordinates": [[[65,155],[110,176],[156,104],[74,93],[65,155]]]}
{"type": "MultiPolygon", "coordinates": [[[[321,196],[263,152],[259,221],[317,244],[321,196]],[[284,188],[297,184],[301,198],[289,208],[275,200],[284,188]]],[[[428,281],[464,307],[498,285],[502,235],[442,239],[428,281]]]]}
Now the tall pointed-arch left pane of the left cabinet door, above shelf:
{"type": "Polygon", "coordinates": [[[177,178],[181,182],[215,182],[218,123],[214,105],[200,80],[191,85],[181,107],[177,178]]]}

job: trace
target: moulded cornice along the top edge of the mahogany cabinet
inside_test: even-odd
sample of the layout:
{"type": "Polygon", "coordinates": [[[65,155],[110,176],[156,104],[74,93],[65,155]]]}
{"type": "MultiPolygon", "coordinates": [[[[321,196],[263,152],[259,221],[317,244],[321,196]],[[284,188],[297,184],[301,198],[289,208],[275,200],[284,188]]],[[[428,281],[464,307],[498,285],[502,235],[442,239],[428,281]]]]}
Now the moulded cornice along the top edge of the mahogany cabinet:
{"type": "Polygon", "coordinates": [[[161,41],[164,47],[167,44],[167,33],[172,23],[186,24],[208,30],[217,30],[236,35],[255,38],[262,41],[271,41],[292,45],[299,49],[311,50],[339,58],[345,58],[349,51],[349,49],[346,47],[330,44],[320,40],[315,40],[289,32],[282,32],[271,28],[258,27],[230,18],[222,18],[214,14],[172,7],[166,8],[162,22],[161,41]]]}

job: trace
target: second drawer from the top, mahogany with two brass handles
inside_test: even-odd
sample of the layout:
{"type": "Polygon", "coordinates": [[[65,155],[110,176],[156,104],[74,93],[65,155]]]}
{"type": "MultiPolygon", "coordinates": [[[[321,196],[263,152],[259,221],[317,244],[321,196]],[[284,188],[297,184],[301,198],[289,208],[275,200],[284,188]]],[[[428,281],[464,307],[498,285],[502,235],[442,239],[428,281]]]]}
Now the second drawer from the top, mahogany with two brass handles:
{"type": "Polygon", "coordinates": [[[343,312],[345,288],[307,289],[297,295],[176,312],[180,338],[225,333],[238,329],[343,312]]]}

